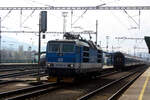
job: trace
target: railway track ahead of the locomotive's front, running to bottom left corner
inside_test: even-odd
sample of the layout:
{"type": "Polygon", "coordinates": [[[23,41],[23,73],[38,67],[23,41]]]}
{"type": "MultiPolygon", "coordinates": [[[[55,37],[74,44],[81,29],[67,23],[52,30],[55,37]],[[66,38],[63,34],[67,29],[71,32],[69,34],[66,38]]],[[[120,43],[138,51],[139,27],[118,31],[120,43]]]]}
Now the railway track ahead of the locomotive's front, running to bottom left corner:
{"type": "Polygon", "coordinates": [[[43,83],[23,89],[12,90],[0,93],[0,100],[24,100],[28,97],[41,95],[60,88],[57,83],[43,83]]]}

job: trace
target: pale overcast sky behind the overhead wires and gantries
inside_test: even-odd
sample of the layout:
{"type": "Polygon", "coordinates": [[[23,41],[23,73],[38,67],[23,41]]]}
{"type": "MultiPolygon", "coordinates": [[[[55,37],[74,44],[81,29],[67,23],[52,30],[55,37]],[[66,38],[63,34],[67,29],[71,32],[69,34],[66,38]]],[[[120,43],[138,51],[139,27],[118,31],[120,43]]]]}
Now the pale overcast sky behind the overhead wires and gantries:
{"type": "MultiPolygon", "coordinates": [[[[48,7],[48,6],[97,6],[106,3],[105,6],[150,6],[150,0],[1,0],[1,7],[48,7]]],[[[95,23],[98,20],[98,41],[101,41],[101,46],[106,47],[106,36],[109,36],[109,50],[113,47],[121,47],[120,50],[133,53],[133,47],[147,48],[145,41],[134,40],[120,40],[119,42],[115,37],[136,37],[144,38],[150,34],[150,11],[141,11],[140,18],[140,30],[136,27],[139,24],[139,11],[127,11],[127,13],[136,21],[136,23],[128,17],[128,15],[122,10],[99,10],[99,11],[73,11],[72,22],[74,23],[79,16],[77,22],[73,24],[71,28],[71,11],[48,11],[48,30],[47,31],[63,31],[63,17],[62,12],[68,12],[67,14],[67,31],[95,31],[95,23]],[[133,29],[134,28],[134,29],[133,29]]],[[[2,19],[2,31],[38,31],[39,11],[0,11],[0,17],[2,19]]],[[[36,34],[23,34],[23,33],[2,33],[3,37],[13,37],[18,41],[26,42],[31,45],[37,45],[38,37],[36,34]]],[[[94,35],[93,40],[95,40],[94,35]]],[[[86,39],[89,39],[88,35],[84,35],[86,39]]],[[[46,45],[46,42],[51,39],[62,38],[60,34],[48,35],[46,39],[42,40],[42,45],[46,45]]],[[[145,49],[136,50],[137,52],[147,52],[145,49]]]]}

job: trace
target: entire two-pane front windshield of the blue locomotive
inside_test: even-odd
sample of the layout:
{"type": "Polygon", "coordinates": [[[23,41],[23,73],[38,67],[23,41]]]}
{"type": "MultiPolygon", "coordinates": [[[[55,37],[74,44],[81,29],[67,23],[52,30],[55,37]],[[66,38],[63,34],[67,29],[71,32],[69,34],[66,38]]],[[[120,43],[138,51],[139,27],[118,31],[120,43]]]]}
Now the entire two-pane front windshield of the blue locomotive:
{"type": "Polygon", "coordinates": [[[73,43],[49,43],[48,52],[53,52],[53,53],[74,52],[74,44],[73,43]]]}

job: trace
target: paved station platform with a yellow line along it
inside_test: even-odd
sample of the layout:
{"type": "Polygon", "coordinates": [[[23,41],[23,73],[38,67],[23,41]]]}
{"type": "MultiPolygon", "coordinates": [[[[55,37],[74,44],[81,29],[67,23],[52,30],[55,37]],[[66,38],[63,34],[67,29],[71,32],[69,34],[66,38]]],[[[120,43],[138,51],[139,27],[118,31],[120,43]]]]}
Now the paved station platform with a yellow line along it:
{"type": "Polygon", "coordinates": [[[150,67],[118,100],[150,100],[150,67]]]}

